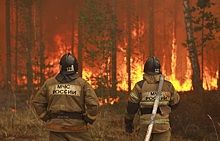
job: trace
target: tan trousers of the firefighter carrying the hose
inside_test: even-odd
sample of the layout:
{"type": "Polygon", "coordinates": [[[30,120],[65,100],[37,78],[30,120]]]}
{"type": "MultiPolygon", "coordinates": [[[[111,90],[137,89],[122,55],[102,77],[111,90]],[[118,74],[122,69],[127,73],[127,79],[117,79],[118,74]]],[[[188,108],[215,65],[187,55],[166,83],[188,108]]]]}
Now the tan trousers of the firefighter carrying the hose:
{"type": "MultiPolygon", "coordinates": [[[[147,133],[147,128],[140,128],[137,131],[137,141],[144,141],[147,133]]],[[[150,141],[170,141],[171,140],[171,131],[167,130],[162,133],[152,133],[150,141]]]]}

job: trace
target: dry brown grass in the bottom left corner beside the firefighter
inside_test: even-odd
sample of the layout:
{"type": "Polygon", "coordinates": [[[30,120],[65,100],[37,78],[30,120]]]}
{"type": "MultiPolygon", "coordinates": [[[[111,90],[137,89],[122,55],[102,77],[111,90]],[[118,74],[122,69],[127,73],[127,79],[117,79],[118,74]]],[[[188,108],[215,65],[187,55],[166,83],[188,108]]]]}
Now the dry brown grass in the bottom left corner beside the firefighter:
{"type": "Polygon", "coordinates": [[[2,110],[0,117],[0,140],[36,138],[44,141],[47,136],[44,123],[38,120],[30,107],[22,111],[2,110]]]}

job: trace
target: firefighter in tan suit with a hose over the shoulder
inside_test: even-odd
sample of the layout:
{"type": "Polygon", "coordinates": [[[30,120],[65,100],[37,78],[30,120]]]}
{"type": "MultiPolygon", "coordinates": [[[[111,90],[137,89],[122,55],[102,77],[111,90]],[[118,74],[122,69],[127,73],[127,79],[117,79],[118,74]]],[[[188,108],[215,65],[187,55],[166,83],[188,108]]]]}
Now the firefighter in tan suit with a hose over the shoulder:
{"type": "MultiPolygon", "coordinates": [[[[144,141],[148,125],[151,122],[152,109],[160,80],[161,66],[156,57],[150,57],[144,64],[143,80],[137,82],[128,96],[125,113],[125,131],[132,133],[134,130],[133,119],[139,115],[137,126],[137,141],[144,141]]],[[[155,116],[151,134],[152,141],[170,141],[171,128],[169,114],[171,108],[179,103],[180,96],[169,81],[164,81],[160,95],[159,106],[155,116]]]]}

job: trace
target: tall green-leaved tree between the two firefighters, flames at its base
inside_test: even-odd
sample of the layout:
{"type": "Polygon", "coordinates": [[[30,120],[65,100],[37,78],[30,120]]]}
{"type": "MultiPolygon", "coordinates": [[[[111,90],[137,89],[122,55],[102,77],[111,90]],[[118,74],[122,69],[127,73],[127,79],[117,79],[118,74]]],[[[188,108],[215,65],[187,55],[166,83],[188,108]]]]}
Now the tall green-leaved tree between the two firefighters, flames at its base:
{"type": "MultiPolygon", "coordinates": [[[[86,0],[85,8],[80,10],[79,26],[82,27],[83,61],[92,69],[97,69],[95,85],[101,93],[108,96],[112,77],[111,55],[114,38],[112,23],[115,22],[112,7],[103,0],[86,0]],[[106,90],[107,89],[107,90],[106,90]],[[106,94],[107,93],[107,94],[106,94]]],[[[80,55],[80,54],[78,54],[80,55]]]]}

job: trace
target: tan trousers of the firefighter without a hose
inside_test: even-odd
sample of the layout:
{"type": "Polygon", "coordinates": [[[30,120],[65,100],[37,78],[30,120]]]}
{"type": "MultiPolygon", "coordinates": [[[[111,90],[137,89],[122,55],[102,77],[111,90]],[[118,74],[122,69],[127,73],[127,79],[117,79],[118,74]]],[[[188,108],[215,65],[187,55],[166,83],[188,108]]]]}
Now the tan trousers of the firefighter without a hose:
{"type": "Polygon", "coordinates": [[[84,132],[52,132],[50,131],[49,141],[91,141],[88,131],[84,132]]]}

